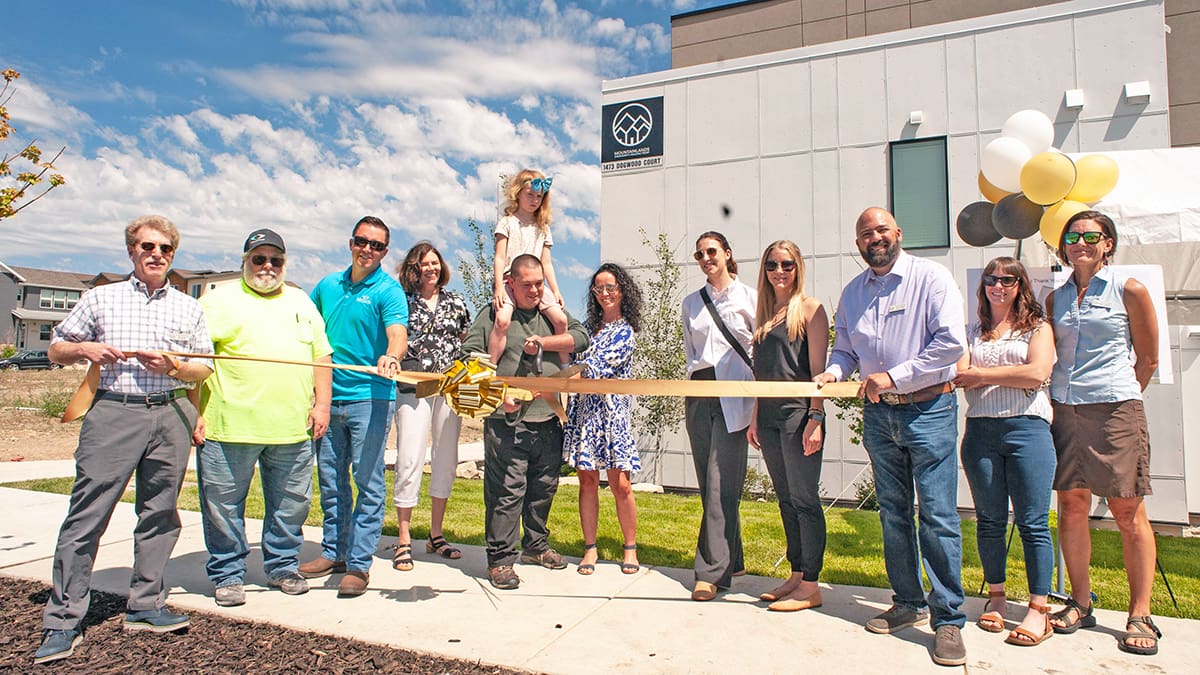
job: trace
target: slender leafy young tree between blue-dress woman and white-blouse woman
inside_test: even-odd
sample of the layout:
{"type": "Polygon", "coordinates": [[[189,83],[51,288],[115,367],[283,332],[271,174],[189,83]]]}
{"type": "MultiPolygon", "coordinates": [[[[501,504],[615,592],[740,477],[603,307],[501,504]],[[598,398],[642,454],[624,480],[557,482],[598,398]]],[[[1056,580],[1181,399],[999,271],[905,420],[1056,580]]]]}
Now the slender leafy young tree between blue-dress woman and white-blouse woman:
{"type": "MultiPolygon", "coordinates": [[[[638,270],[642,280],[642,330],[637,335],[637,350],[634,351],[634,377],[640,380],[683,380],[688,374],[688,363],[683,351],[683,323],[679,321],[679,305],[683,270],[674,262],[674,251],[667,235],[659,233],[652,240],[646,229],[642,233],[642,245],[654,252],[655,263],[631,267],[638,270]]],[[[660,461],[666,449],[668,435],[674,434],[684,416],[684,402],[678,396],[638,396],[634,411],[634,425],[638,435],[654,440],[652,459],[655,482],[659,480],[660,461]]],[[[646,462],[652,464],[650,461],[646,462]]]]}

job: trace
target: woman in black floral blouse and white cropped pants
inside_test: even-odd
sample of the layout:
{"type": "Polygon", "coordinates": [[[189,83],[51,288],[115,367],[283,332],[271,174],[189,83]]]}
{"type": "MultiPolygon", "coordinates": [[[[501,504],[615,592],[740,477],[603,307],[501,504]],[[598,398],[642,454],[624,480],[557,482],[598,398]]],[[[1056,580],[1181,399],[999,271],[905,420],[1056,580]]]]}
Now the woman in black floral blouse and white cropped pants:
{"type": "MultiPolygon", "coordinates": [[[[420,372],[442,372],[454,363],[462,339],[470,325],[470,312],[462,295],[446,291],[450,269],[442,253],[428,241],[413,246],[404,262],[396,269],[400,283],[408,292],[408,356],[403,369],[420,372]]],[[[432,464],[430,476],[430,538],[426,552],[446,558],[460,558],[462,551],[442,536],[442,519],[454,486],[458,464],[458,431],[462,419],[442,398],[418,399],[415,389],[397,384],[396,392],[396,489],[392,503],[400,536],[392,567],[401,572],[413,568],[413,543],[409,525],[413,507],[420,498],[421,468],[425,449],[432,434],[432,464]]]]}

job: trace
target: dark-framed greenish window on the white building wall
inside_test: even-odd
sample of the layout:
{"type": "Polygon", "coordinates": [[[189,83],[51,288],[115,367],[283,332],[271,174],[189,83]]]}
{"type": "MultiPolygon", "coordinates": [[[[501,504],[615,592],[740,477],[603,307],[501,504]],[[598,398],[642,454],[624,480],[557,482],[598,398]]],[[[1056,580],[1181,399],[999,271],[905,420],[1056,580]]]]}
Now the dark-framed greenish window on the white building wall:
{"type": "Polygon", "coordinates": [[[905,249],[950,245],[950,192],[946,137],[894,141],[888,148],[892,213],[905,249]]]}

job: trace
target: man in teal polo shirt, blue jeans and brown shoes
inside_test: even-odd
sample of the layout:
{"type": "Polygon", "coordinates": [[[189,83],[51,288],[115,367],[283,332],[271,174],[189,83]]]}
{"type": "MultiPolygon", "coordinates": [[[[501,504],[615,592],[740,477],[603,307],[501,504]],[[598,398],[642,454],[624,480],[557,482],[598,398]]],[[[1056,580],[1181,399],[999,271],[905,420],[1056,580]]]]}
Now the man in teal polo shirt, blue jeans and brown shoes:
{"type": "MultiPolygon", "coordinates": [[[[350,237],[350,267],[317,283],[312,301],[325,321],[335,364],[374,365],[385,377],[400,371],[408,350],[408,299],[380,268],[388,226],[365,216],[350,237]]],[[[391,426],[396,386],[365,372],[334,371],[329,431],[317,442],[317,480],[325,512],[322,554],[300,566],[306,579],[344,572],[338,597],[367,590],[385,507],[383,449],[391,426]],[[358,486],[358,502],[350,477],[358,486]]]]}

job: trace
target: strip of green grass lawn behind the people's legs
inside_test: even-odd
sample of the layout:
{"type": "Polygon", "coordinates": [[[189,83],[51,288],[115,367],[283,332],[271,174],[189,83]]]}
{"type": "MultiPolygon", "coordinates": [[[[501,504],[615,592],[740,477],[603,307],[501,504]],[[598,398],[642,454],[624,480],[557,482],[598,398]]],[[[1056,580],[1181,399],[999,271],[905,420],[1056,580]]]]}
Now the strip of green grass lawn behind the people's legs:
{"type": "MultiPolygon", "coordinates": [[[[187,484],[179,498],[182,509],[198,510],[194,480],[194,474],[188,473],[187,484]]],[[[385,534],[395,536],[396,512],[390,507],[391,480],[392,473],[389,472],[389,508],[383,531],[385,534]]],[[[6,486],[68,494],[71,483],[70,478],[58,478],[13,483],[6,486]]],[[[316,490],[316,477],[313,488],[316,490]]],[[[427,495],[427,491],[422,490],[422,495],[427,495]]],[[[552,544],[559,552],[571,556],[583,555],[577,498],[578,488],[562,485],[550,516],[552,544]]],[[[132,491],[126,495],[125,501],[133,501],[132,491]]],[[[456,480],[454,496],[446,509],[446,538],[455,543],[484,545],[482,504],[482,480],[456,480]]],[[[262,491],[257,477],[251,488],[246,512],[247,518],[262,518],[262,491]]],[[[1054,514],[1050,516],[1054,525],[1054,514]]],[[[700,528],[698,497],[637,494],[637,554],[643,565],[691,567],[696,532],[700,528]]],[[[422,498],[413,515],[414,539],[428,534],[428,500],[422,498]]],[[[320,506],[314,495],[308,525],[320,524],[320,506]]],[[[888,587],[877,513],[834,508],[827,515],[827,530],[829,536],[824,571],[821,573],[822,581],[835,585],[888,587]]],[[[983,583],[974,536],[974,521],[964,520],[962,584],[968,596],[979,596],[983,583]]],[[[784,532],[775,503],[742,502],[742,537],[745,545],[746,571],[750,574],[787,577],[790,569],[786,561],[779,567],[775,566],[784,555],[784,532]]],[[[612,497],[606,490],[600,495],[600,537],[596,543],[601,560],[620,560],[620,530],[612,497]]],[[[1126,590],[1124,562],[1121,560],[1120,534],[1093,531],[1092,545],[1092,586],[1098,596],[1097,607],[1123,610],[1129,597],[1126,590]]],[[[1154,578],[1153,613],[1160,616],[1200,619],[1200,539],[1159,537],[1158,556],[1166,569],[1180,609],[1172,607],[1166,586],[1159,575],[1154,578]]],[[[1009,597],[1013,599],[1025,597],[1025,563],[1019,536],[1013,537],[1008,579],[1009,597]]],[[[974,603],[968,601],[967,614],[977,609],[974,603]]]]}

